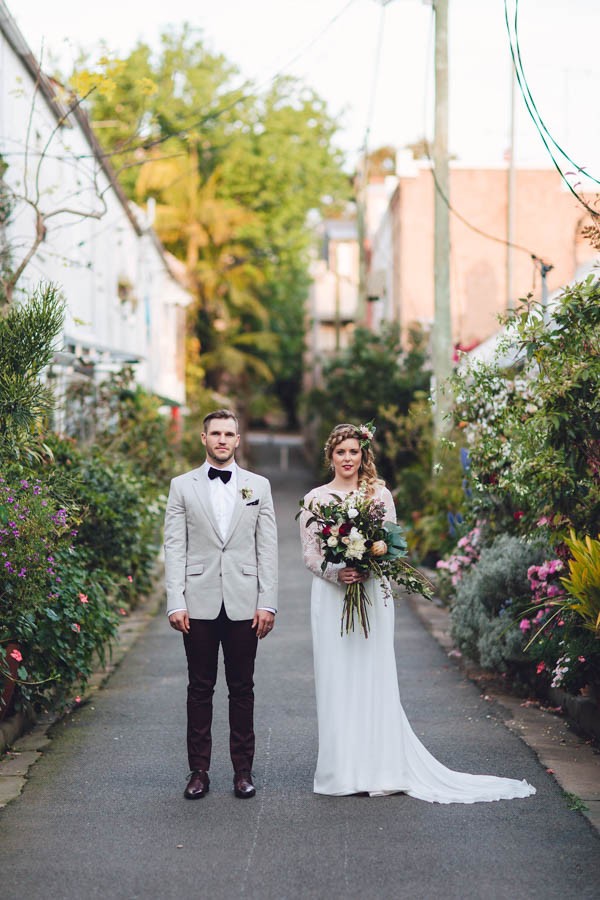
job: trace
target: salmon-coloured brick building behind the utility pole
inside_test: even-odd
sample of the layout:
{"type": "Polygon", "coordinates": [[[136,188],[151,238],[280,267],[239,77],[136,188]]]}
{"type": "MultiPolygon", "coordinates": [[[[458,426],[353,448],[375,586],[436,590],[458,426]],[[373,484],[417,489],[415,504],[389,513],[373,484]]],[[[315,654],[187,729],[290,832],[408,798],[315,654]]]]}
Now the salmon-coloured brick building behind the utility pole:
{"type": "MultiPolygon", "coordinates": [[[[433,192],[430,163],[400,158],[388,209],[370,238],[370,281],[380,297],[373,304],[375,323],[395,319],[403,330],[412,323],[425,328],[433,323],[433,192]]],[[[509,251],[503,243],[508,167],[451,163],[452,207],[473,226],[500,239],[489,240],[450,214],[452,331],[455,344],[464,348],[497,331],[497,316],[509,301],[529,292],[540,297],[539,266],[531,253],[553,266],[547,276],[550,292],[599,256],[581,238],[588,214],[554,169],[518,169],[514,196],[513,242],[524,250],[509,251]]],[[[593,194],[585,196],[593,203],[593,194]]]]}

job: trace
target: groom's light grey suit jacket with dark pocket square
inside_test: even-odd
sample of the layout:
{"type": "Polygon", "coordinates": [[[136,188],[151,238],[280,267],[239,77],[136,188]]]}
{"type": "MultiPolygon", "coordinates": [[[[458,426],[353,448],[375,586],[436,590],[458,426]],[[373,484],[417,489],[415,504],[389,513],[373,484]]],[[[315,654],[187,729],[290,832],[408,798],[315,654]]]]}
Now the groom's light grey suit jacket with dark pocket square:
{"type": "Polygon", "coordinates": [[[238,466],[229,532],[219,534],[206,463],[171,481],[165,515],[167,610],[216,619],[225,604],[233,621],[257,606],[277,609],[277,528],[266,478],[238,466]],[[242,491],[244,492],[242,494],[242,491]]]}

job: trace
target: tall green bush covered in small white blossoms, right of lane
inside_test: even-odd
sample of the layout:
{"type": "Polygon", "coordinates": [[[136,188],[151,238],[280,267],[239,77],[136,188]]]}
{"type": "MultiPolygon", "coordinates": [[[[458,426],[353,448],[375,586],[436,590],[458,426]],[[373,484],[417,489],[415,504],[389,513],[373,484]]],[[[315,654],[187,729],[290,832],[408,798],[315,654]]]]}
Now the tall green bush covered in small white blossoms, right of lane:
{"type": "Polygon", "coordinates": [[[589,276],[565,289],[549,325],[526,304],[507,317],[497,360],[453,378],[473,512],[497,531],[600,530],[599,301],[589,276]]]}

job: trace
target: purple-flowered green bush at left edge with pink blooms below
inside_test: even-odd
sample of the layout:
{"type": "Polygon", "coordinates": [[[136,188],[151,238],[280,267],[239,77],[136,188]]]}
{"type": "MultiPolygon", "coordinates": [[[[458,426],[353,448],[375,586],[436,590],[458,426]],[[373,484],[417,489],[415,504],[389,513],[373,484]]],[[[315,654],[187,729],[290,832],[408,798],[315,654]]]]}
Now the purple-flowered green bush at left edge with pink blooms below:
{"type": "Polygon", "coordinates": [[[77,520],[40,479],[0,477],[0,559],[0,683],[13,660],[20,699],[45,705],[85,680],[114,635],[110,579],[90,570],[77,520]]]}

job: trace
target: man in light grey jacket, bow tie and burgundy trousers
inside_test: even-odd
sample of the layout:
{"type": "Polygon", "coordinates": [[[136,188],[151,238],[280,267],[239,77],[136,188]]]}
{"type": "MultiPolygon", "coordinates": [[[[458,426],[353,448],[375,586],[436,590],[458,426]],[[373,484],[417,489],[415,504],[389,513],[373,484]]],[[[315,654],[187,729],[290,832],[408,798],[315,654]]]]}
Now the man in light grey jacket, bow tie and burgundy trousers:
{"type": "Polygon", "coordinates": [[[206,462],[171,482],[165,516],[167,615],[181,631],[188,664],[184,797],[209,789],[212,698],[219,645],[229,689],[229,747],[236,797],[256,793],[254,659],[277,610],[277,530],[266,478],[236,465],[240,442],[234,413],[204,419],[206,462]]]}

